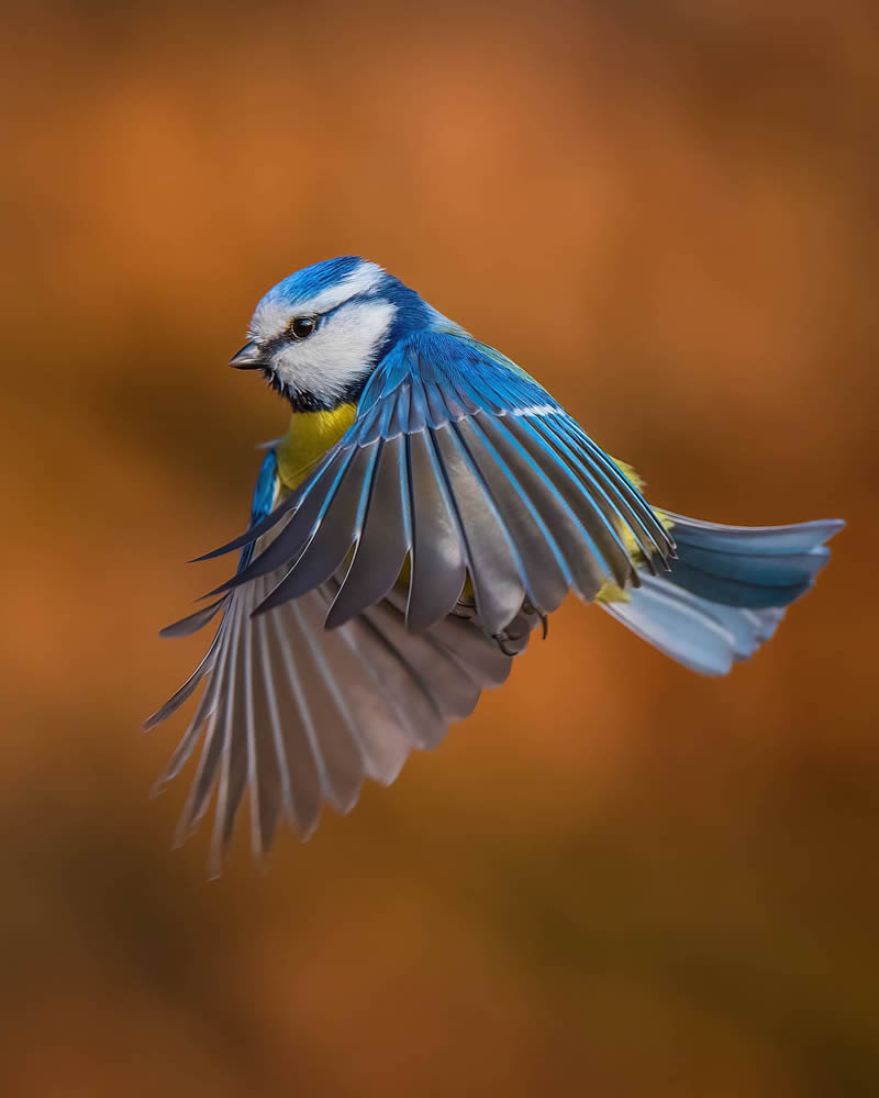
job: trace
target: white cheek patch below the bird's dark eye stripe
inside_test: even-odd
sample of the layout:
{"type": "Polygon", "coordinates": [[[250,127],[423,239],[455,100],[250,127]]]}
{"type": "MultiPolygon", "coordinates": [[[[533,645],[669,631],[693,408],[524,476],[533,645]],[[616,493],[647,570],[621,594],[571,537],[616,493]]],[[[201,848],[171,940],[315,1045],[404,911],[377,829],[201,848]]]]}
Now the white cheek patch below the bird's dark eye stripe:
{"type": "Polygon", "coordinates": [[[387,301],[343,305],[321,322],[314,335],[287,344],[272,365],[290,389],[332,403],[370,372],[375,349],[396,312],[387,301]]]}

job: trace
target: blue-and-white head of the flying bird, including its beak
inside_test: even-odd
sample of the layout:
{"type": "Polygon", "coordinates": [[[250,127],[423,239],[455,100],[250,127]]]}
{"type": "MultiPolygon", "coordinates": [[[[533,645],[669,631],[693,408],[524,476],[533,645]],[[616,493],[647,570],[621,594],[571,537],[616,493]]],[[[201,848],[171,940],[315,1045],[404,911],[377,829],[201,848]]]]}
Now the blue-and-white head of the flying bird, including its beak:
{"type": "Polygon", "coordinates": [[[262,370],[297,411],[329,411],[356,401],[386,350],[438,316],[377,264],[325,259],[268,291],[230,365],[262,370]]]}

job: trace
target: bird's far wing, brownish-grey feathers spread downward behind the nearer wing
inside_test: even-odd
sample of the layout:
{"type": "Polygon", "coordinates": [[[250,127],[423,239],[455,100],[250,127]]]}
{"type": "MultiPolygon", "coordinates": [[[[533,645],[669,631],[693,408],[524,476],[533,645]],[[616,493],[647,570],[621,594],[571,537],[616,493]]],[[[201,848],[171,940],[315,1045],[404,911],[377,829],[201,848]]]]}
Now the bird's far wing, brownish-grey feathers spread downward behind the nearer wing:
{"type": "MultiPolygon", "coordinates": [[[[269,453],[257,485],[257,520],[267,509],[260,497],[274,498],[274,461],[269,453]]],[[[245,549],[242,569],[251,556],[245,549]]],[[[332,579],[253,617],[283,574],[257,576],[163,630],[187,636],[222,613],[199,666],[146,722],[153,728],[167,719],[207,682],[157,788],[179,773],[202,740],[178,840],[192,833],[216,791],[214,872],[245,789],[255,851],[268,850],[281,816],[305,837],[323,800],[344,813],[365,777],[392,782],[409,751],[435,747],[450,721],[472,710],[482,688],[507,679],[512,662],[464,618],[409,635],[399,595],[326,630],[324,618],[338,593],[332,579]]],[[[523,635],[520,647],[526,640],[523,635]]]]}

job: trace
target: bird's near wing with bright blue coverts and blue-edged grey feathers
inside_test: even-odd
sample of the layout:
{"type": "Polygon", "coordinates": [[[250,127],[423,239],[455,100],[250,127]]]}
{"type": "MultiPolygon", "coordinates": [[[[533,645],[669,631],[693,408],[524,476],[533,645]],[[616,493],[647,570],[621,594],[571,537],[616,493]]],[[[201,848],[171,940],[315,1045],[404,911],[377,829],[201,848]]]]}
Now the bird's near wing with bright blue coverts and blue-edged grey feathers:
{"type": "Polygon", "coordinates": [[[608,581],[637,586],[627,545],[650,570],[674,554],[635,485],[544,389],[483,344],[442,332],[398,346],[309,480],[216,553],[272,527],[271,545],[216,593],[280,575],[262,613],[346,565],[331,628],[402,583],[407,627],[424,630],[469,576],[480,623],[500,634],[523,605],[548,614],[569,590],[591,601],[608,581]]]}

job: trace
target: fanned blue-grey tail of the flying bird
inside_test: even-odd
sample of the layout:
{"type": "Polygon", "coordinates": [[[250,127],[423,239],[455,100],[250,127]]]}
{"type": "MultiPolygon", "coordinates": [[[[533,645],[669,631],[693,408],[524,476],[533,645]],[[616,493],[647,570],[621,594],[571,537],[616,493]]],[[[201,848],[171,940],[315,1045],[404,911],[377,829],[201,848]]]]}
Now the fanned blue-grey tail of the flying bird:
{"type": "Polygon", "coordinates": [[[678,549],[671,571],[642,575],[625,601],[601,605],[660,652],[706,675],[726,674],[772,636],[826,563],[825,542],[845,525],[720,526],[664,514],[678,549]]]}

